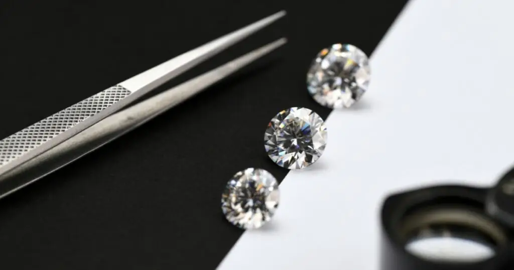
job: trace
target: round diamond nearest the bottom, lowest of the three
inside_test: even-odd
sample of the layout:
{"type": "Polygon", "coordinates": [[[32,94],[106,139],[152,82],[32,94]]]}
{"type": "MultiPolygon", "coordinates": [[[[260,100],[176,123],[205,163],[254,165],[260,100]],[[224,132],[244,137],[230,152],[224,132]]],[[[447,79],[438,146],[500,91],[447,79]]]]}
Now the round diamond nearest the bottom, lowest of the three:
{"type": "Polygon", "coordinates": [[[263,169],[236,173],[222,195],[227,220],[242,229],[256,229],[273,217],[279,206],[279,183],[263,169]]]}

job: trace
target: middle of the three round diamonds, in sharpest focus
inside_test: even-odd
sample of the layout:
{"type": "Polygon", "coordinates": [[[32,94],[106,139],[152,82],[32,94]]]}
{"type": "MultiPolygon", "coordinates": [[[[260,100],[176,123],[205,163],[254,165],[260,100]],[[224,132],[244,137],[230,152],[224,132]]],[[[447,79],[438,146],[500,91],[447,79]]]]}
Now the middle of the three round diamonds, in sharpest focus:
{"type": "Polygon", "coordinates": [[[264,147],[279,166],[302,169],[320,158],[326,139],[325,122],[317,113],[292,107],[271,119],[264,134],[264,147]]]}

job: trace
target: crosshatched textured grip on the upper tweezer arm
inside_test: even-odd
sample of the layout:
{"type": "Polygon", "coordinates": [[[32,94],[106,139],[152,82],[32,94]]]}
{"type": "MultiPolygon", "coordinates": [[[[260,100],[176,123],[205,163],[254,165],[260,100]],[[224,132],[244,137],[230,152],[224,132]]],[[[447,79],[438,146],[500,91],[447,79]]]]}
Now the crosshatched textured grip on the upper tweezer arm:
{"type": "Polygon", "coordinates": [[[120,85],[108,88],[0,140],[0,167],[132,94],[120,85]]]}

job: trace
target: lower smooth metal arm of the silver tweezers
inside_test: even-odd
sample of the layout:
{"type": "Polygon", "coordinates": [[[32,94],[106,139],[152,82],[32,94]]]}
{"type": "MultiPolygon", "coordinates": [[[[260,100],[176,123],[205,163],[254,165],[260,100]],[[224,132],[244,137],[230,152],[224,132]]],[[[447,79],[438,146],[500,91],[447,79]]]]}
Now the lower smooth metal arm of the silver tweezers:
{"type": "Polygon", "coordinates": [[[66,166],[83,155],[151,120],[175,105],[227,78],[268,52],[284,45],[280,39],[251,51],[207,73],[104,118],[58,146],[0,175],[0,198],[66,166]]]}

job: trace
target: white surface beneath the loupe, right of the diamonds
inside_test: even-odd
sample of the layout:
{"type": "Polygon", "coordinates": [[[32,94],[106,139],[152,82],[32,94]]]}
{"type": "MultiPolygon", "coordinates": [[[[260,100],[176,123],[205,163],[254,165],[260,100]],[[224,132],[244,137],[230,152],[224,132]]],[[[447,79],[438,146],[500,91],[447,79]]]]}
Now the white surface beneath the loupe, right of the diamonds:
{"type": "Polygon", "coordinates": [[[371,57],[368,93],[328,117],[321,159],[286,176],[272,222],[245,232],[219,269],[377,269],[387,194],[495,182],[514,163],[512,10],[411,1],[371,57]]]}

